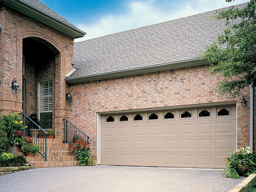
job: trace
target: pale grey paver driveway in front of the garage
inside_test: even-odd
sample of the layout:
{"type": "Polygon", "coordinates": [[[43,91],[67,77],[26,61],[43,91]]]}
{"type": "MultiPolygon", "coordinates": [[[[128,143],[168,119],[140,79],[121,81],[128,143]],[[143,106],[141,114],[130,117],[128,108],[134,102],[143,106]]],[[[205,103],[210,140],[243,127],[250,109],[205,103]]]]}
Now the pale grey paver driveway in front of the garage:
{"type": "Polygon", "coordinates": [[[229,191],[244,178],[220,170],[154,167],[56,167],[0,176],[0,191],[229,191]]]}

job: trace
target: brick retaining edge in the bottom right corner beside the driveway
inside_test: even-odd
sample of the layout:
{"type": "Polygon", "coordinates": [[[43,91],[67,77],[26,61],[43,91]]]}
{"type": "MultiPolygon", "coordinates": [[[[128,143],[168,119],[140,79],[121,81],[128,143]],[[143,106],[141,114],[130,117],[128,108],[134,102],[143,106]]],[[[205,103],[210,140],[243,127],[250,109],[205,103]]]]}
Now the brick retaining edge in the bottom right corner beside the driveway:
{"type": "Polygon", "coordinates": [[[235,186],[230,192],[250,192],[256,185],[256,174],[251,174],[242,183],[235,186]]]}

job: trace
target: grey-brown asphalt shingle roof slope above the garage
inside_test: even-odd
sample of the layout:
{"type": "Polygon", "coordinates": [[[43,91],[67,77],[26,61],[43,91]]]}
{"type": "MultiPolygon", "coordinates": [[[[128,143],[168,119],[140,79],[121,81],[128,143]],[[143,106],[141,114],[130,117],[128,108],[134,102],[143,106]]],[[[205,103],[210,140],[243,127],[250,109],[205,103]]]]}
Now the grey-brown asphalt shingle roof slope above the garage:
{"type": "Polygon", "coordinates": [[[226,20],[209,19],[215,12],[77,42],[74,64],[78,69],[68,78],[195,59],[225,28],[226,20]]]}

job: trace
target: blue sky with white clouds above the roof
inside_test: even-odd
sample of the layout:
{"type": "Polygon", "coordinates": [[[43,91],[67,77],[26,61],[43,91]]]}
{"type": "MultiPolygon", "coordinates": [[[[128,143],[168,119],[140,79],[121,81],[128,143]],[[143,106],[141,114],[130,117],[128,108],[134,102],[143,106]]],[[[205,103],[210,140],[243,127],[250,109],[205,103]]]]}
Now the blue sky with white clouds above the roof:
{"type": "Polygon", "coordinates": [[[248,0],[39,0],[85,31],[82,41],[248,0]]]}

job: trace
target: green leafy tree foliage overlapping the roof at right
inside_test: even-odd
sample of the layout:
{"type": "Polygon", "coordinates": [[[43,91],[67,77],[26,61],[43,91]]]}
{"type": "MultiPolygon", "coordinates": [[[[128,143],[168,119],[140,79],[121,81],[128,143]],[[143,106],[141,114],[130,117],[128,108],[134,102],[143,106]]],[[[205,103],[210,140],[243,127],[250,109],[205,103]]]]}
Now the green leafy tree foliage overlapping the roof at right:
{"type": "Polygon", "coordinates": [[[210,18],[226,20],[223,33],[218,35],[212,45],[206,47],[205,52],[200,53],[200,59],[210,62],[212,74],[223,77],[215,88],[220,96],[236,97],[241,89],[256,83],[255,7],[256,0],[250,0],[243,8],[232,6],[216,12],[210,18]]]}

